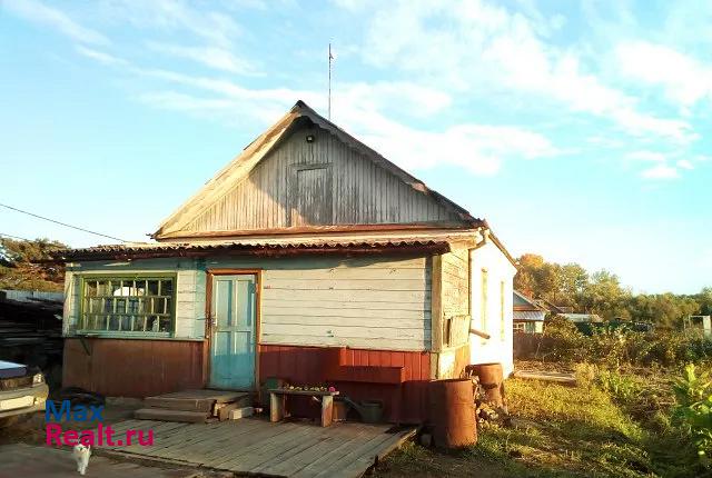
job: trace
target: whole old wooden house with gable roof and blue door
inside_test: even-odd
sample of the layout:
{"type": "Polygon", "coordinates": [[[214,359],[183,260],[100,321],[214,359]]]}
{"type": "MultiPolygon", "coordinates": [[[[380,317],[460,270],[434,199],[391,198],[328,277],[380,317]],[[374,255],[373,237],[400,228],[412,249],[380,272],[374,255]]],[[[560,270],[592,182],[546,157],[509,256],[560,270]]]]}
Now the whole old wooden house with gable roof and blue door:
{"type": "Polygon", "coordinates": [[[301,101],[152,237],[58,253],[65,386],[328,381],[417,422],[428,380],[513,369],[515,267],[487,223],[301,101]]]}

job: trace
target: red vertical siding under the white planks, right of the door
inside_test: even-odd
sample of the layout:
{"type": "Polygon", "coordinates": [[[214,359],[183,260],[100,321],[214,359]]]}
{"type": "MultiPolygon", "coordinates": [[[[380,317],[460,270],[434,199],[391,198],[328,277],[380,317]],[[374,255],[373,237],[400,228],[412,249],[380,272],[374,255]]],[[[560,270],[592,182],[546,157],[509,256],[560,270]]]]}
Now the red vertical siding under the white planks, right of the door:
{"type": "MultiPolygon", "coordinates": [[[[259,376],[283,378],[295,385],[315,385],[327,381],[328,371],[337,360],[338,350],[318,347],[269,346],[260,347],[259,376]]],[[[374,379],[378,368],[403,367],[405,381],[400,385],[354,381],[330,381],[342,395],[354,400],[383,400],[384,414],[393,422],[423,422],[427,417],[427,382],[431,379],[431,353],[393,350],[344,350],[344,365],[373,367],[374,379]]],[[[297,404],[298,406],[298,404],[297,404]]],[[[301,404],[300,411],[309,410],[301,404]]]]}

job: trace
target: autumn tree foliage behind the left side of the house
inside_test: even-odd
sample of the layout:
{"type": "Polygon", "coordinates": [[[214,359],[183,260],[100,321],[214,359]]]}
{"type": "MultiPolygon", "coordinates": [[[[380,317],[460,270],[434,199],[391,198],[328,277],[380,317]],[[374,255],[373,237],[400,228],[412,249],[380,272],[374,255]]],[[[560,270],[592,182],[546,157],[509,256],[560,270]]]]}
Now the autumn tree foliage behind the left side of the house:
{"type": "Polygon", "coordinates": [[[0,289],[61,291],[63,265],[36,262],[50,259],[51,251],[58,249],[67,246],[49,239],[0,238],[0,289]]]}

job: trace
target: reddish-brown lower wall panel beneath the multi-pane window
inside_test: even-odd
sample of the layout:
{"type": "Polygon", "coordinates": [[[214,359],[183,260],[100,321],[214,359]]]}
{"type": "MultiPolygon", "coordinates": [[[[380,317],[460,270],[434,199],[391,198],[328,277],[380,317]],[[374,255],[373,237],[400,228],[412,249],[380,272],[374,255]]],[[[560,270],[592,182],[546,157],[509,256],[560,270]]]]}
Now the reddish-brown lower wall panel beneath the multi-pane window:
{"type": "Polygon", "coordinates": [[[146,397],[202,388],[202,341],[65,340],[63,387],[81,387],[110,397],[146,397]]]}

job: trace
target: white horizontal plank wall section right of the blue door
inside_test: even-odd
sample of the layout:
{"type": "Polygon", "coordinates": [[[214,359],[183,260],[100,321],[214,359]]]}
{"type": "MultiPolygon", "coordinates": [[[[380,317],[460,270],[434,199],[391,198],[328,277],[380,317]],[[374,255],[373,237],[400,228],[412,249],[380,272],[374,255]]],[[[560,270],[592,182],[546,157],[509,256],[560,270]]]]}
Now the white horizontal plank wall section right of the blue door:
{"type": "Polygon", "coordinates": [[[431,272],[425,258],[214,261],[263,270],[261,343],[426,350],[431,272]]]}

